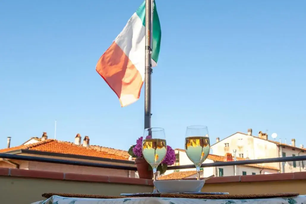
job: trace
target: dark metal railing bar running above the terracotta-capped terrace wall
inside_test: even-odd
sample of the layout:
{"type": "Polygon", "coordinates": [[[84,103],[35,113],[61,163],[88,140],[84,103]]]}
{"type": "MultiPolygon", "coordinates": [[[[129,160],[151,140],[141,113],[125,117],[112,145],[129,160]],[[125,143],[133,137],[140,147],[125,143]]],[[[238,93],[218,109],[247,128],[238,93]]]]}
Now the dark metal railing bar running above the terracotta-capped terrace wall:
{"type": "MultiPolygon", "coordinates": [[[[71,160],[52,159],[52,158],[44,158],[44,157],[32,157],[32,156],[23,156],[23,155],[6,154],[6,153],[0,153],[0,158],[137,171],[136,167],[122,166],[122,165],[99,164],[99,163],[92,163],[92,162],[71,161],[71,160]]],[[[306,161],[306,156],[278,157],[278,158],[253,159],[253,160],[242,160],[242,161],[214,162],[214,163],[202,164],[201,167],[219,167],[219,166],[234,166],[234,165],[245,165],[245,164],[263,164],[263,163],[277,163],[277,162],[287,162],[287,161],[306,161]]],[[[175,169],[186,169],[186,168],[195,168],[195,167],[192,164],[192,165],[181,165],[181,166],[169,166],[167,169],[168,170],[175,170],[175,169]]]]}

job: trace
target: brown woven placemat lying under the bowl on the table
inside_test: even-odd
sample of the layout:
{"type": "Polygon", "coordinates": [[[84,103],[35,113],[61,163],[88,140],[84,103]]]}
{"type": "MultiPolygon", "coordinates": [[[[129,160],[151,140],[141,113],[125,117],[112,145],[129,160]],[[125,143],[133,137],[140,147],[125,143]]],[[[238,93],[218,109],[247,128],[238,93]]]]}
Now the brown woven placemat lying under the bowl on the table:
{"type": "MultiPolygon", "coordinates": [[[[50,198],[53,195],[73,198],[127,198],[127,196],[108,196],[108,195],[88,195],[88,194],[67,194],[67,193],[44,193],[44,198],[50,198]]],[[[260,198],[277,198],[277,197],[293,197],[298,196],[298,193],[274,193],[274,194],[250,194],[250,195],[195,195],[195,194],[146,194],[128,196],[134,198],[140,197],[162,197],[162,198],[194,198],[194,199],[260,199],[260,198]]]]}

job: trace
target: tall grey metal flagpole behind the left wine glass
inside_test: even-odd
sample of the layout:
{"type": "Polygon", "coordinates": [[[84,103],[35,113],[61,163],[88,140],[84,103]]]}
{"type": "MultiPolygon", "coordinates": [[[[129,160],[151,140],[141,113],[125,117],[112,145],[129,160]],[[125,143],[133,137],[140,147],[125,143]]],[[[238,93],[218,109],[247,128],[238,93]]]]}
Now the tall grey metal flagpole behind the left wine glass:
{"type": "Polygon", "coordinates": [[[151,74],[152,74],[152,9],[153,0],[146,0],[146,44],[144,72],[144,128],[151,128],[151,74]]]}

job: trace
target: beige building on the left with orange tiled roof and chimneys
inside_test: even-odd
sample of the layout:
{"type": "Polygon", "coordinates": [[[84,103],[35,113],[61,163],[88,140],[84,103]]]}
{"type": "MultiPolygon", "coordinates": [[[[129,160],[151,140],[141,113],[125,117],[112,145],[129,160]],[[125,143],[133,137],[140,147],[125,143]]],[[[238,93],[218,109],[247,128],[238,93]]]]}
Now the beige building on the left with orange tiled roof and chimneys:
{"type": "MultiPolygon", "coordinates": [[[[64,142],[48,139],[47,133],[43,133],[41,138],[30,138],[16,147],[9,147],[10,139],[8,138],[8,148],[0,149],[0,153],[135,167],[135,163],[129,159],[127,151],[90,145],[88,136],[84,137],[82,143],[80,134],[74,137],[74,142],[64,142]]],[[[37,161],[0,159],[0,167],[101,176],[135,177],[135,172],[129,170],[53,164],[37,161]]]]}

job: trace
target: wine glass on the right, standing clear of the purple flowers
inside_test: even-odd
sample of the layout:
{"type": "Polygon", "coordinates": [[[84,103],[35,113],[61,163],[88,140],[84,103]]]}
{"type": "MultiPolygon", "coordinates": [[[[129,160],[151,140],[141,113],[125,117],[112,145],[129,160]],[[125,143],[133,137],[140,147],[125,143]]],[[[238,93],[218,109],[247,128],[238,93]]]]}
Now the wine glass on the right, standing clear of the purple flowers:
{"type": "Polygon", "coordinates": [[[203,125],[191,125],[186,128],[185,151],[187,157],[196,166],[197,180],[200,180],[200,168],[210,152],[208,129],[203,125]]]}

